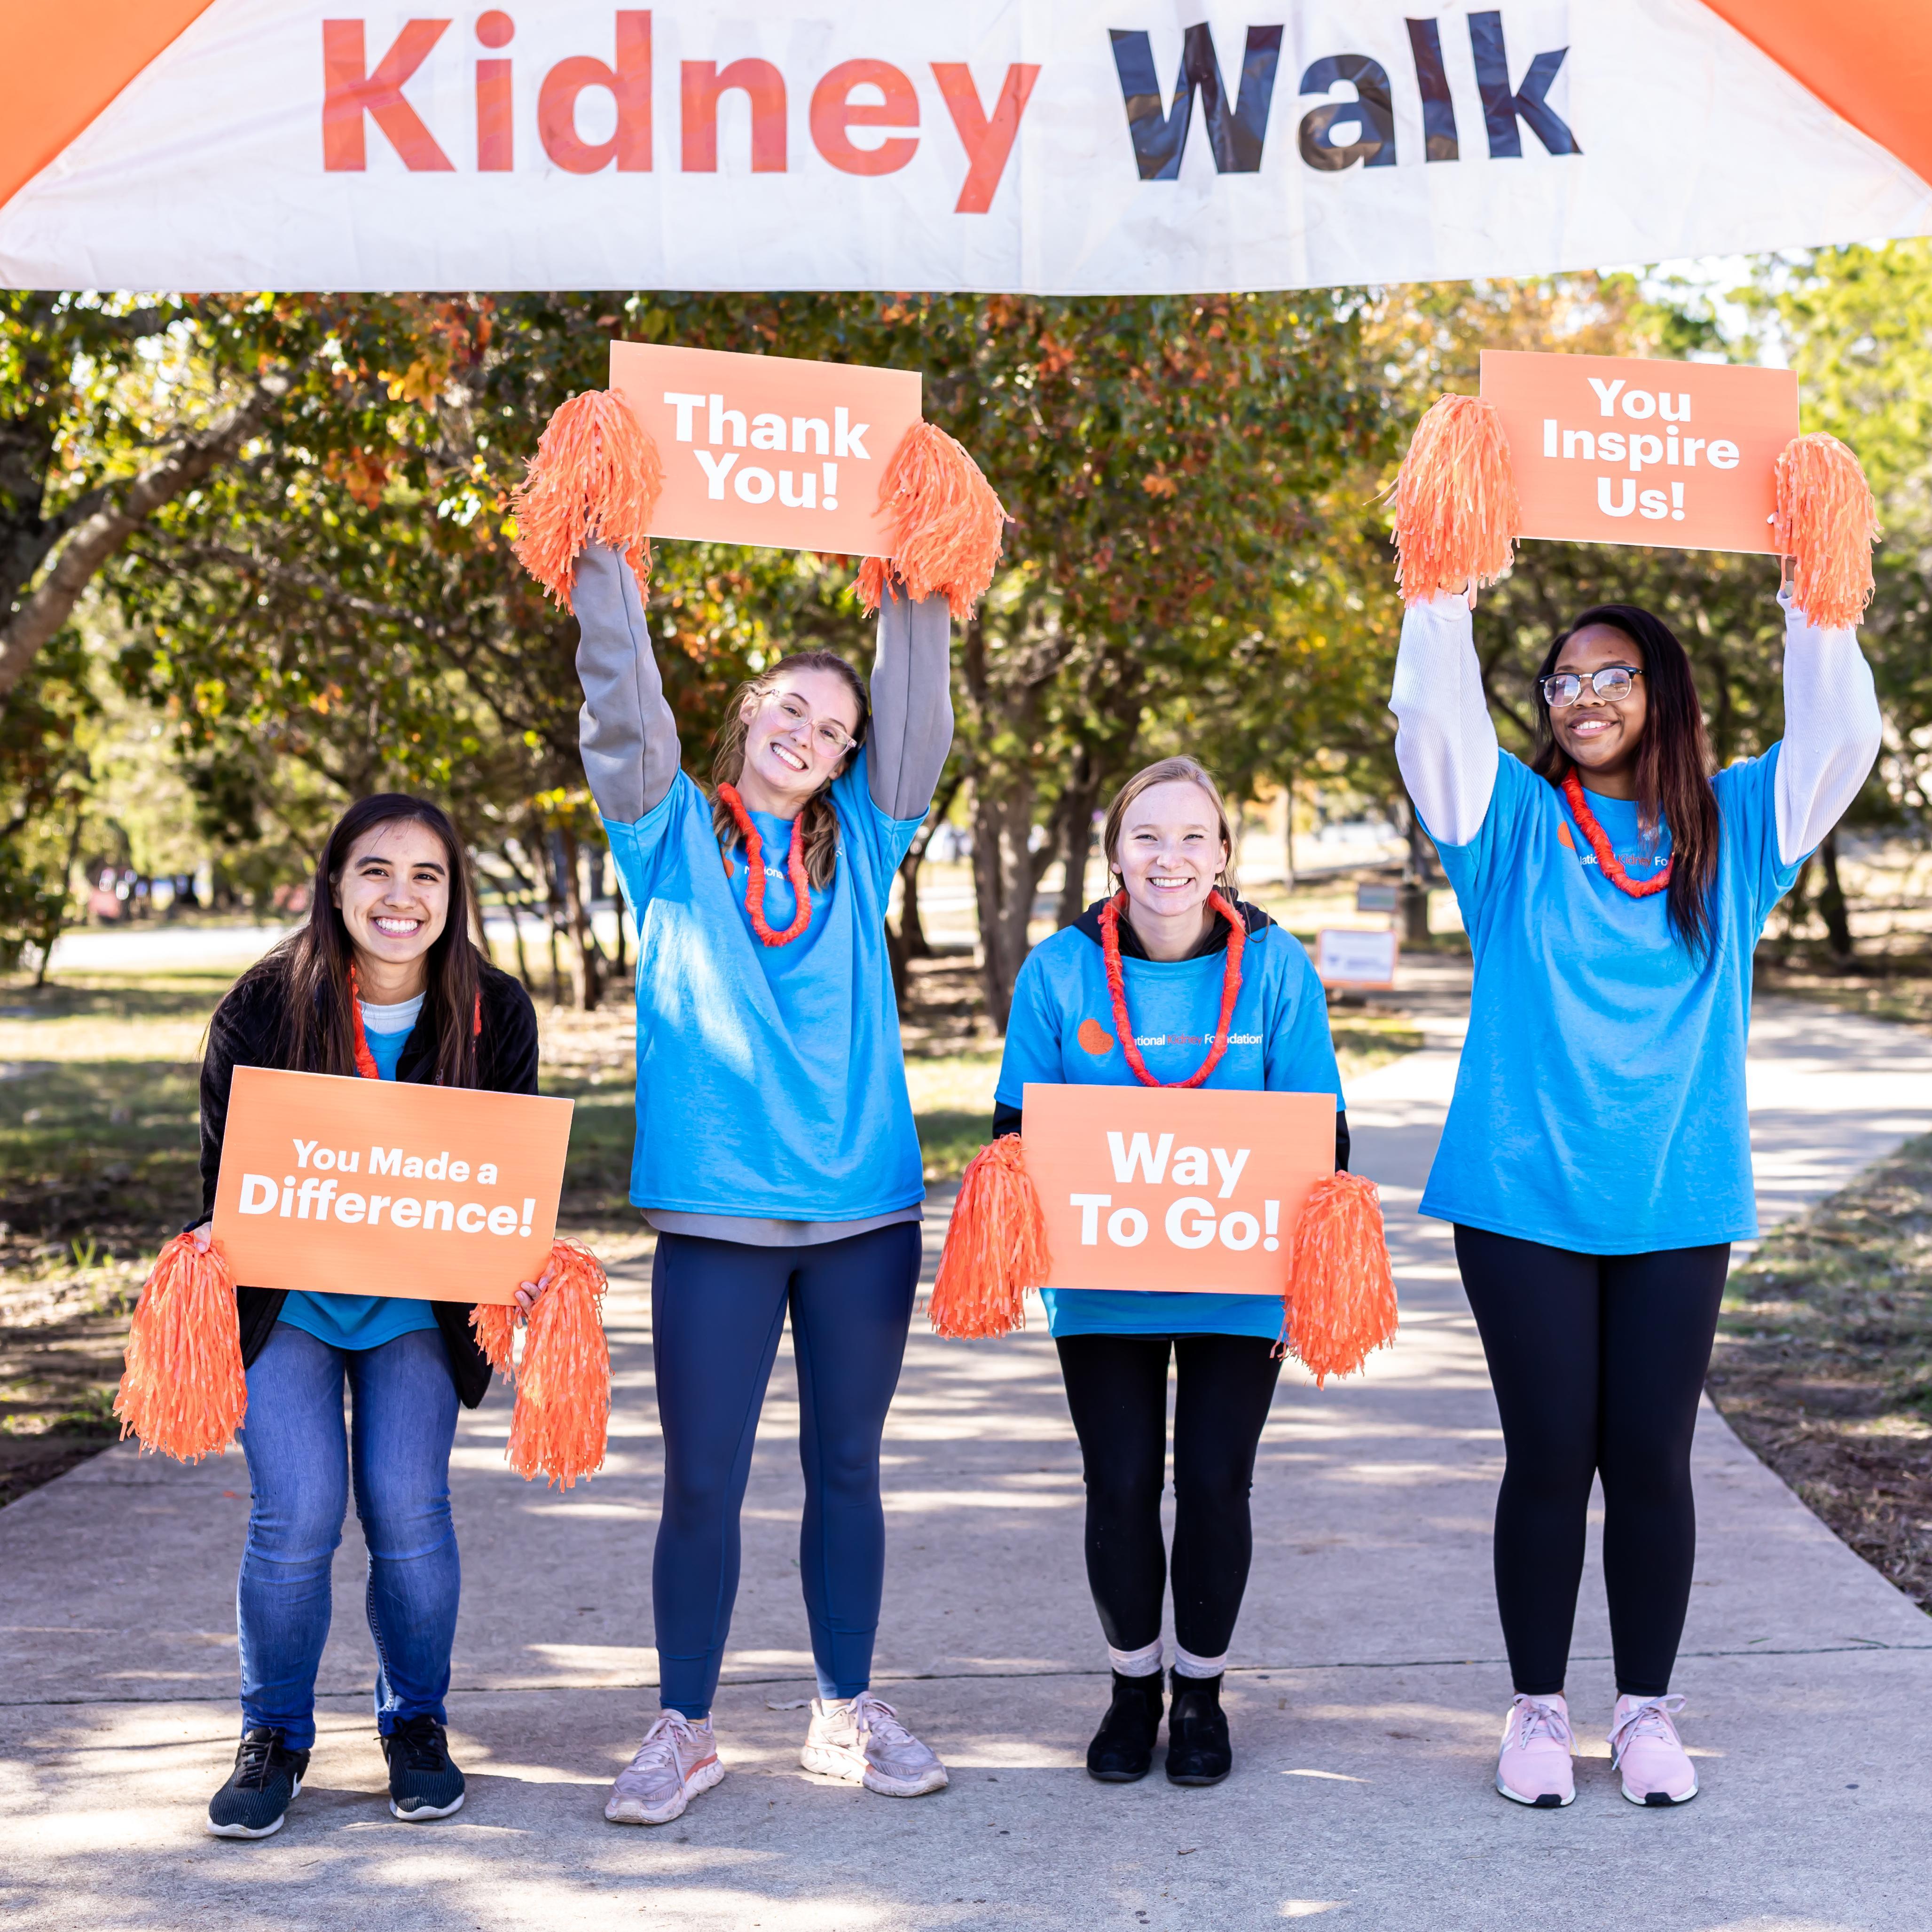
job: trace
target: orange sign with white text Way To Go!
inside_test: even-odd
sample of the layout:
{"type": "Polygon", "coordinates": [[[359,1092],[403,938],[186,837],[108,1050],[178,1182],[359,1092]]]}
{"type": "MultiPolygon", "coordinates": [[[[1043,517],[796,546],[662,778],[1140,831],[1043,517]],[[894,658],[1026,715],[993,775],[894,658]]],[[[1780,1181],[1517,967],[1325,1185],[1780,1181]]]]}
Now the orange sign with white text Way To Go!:
{"type": "Polygon", "coordinates": [[[1022,1138],[1051,1287],[1279,1294],[1335,1095],[1028,1082],[1022,1138]]]}

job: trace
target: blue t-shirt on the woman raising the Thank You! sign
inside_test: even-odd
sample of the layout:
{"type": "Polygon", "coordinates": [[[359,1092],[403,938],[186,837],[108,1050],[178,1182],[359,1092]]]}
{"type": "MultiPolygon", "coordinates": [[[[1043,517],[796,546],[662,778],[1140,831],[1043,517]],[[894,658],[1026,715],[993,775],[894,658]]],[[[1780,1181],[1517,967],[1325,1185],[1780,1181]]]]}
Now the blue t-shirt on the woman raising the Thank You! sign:
{"type": "MultiPolygon", "coordinates": [[[[885,956],[893,873],[922,819],[887,817],[866,753],[833,781],[838,866],[784,947],[752,931],[744,852],[730,875],[711,802],[678,773],[636,825],[605,821],[638,922],[638,1144],[645,1211],[860,1221],[925,1198],[885,956]]],[[[765,923],[796,912],[792,825],[753,811],[765,923]]]]}

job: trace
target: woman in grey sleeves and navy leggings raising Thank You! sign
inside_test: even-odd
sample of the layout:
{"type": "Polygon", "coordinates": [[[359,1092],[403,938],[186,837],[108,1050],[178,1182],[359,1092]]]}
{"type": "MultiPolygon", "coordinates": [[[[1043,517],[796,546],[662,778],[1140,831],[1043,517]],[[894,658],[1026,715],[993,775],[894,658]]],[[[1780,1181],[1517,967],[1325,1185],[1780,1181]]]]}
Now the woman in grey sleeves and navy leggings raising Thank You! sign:
{"type": "Polygon", "coordinates": [[[800,1571],[819,1696],[808,1770],[891,1797],[945,1766],[871,1694],[879,1439],[920,1277],[920,1142],[885,902],[952,744],[945,597],[887,597],[871,692],[804,651],[732,697],[713,796],[682,771],[630,564],[576,564],[583,771],[638,918],[632,1202],[657,1231],[663,1712],[605,1816],[667,1824],[723,1776],[711,1727],[738,1511],[784,1329],[798,1360],[800,1571]]]}

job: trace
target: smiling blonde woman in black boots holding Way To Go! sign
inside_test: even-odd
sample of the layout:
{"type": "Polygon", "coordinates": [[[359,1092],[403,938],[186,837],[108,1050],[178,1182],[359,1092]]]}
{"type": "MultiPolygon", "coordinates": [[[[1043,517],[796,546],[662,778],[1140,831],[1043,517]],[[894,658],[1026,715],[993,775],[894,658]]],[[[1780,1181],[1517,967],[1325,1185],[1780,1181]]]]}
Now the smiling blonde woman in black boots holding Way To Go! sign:
{"type": "MultiPolygon", "coordinates": [[[[1190,757],[1148,765],[1121,786],[1103,846],[1117,891],[1037,945],[1014,983],[995,1136],[1020,1130],[1028,1080],[1333,1094],[1335,1165],[1347,1167],[1327,999],[1300,945],[1236,896],[1213,779],[1190,757]]],[[[1144,1777],[1161,1727],[1173,1360],[1167,1776],[1219,1783],[1233,1766],[1221,1673],[1248,1584],[1248,1490],[1281,1374],[1281,1296],[1045,1289],[1041,1300],[1080,1437],[1088,1582],[1113,1662],[1088,1772],[1144,1777]]]]}

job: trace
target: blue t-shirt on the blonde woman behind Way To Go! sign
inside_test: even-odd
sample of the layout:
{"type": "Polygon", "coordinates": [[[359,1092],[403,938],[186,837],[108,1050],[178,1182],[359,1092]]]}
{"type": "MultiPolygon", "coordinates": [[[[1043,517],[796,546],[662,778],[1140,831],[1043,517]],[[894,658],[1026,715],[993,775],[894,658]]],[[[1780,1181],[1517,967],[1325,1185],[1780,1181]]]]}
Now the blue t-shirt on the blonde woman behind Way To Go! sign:
{"type": "MultiPolygon", "coordinates": [[[[1134,1039],[1155,1080],[1186,1080],[1200,1066],[1221,1018],[1225,966],[1227,952],[1196,960],[1121,960],[1134,1039]]],[[[1099,943],[1076,925],[1034,947],[1012,987],[995,1099],[1005,1107],[1024,1105],[1028,1080],[1138,1086],[1115,1039],[1099,943]]],[[[1204,1084],[1333,1094],[1341,1109],[1341,1074],[1321,981],[1294,935],[1279,925],[1264,925],[1248,937],[1227,1053],[1204,1084]]],[[[1039,1298],[1051,1335],[1262,1335],[1273,1341],[1281,1333],[1279,1294],[1043,1289],[1039,1298]]]]}

